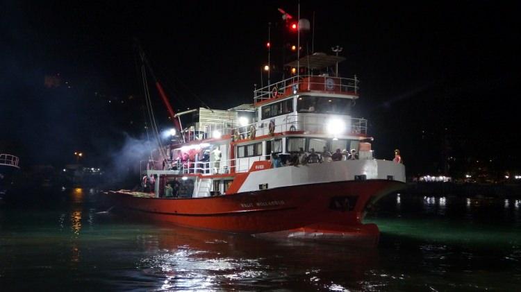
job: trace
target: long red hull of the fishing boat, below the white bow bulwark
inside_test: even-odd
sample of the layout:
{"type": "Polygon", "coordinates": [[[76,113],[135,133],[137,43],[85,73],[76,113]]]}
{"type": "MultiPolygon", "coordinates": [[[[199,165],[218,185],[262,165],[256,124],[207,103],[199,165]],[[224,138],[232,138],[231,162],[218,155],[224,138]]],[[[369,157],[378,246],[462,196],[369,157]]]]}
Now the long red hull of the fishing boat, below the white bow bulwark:
{"type": "MultiPolygon", "coordinates": [[[[108,195],[117,207],[186,227],[247,234],[288,230],[297,234],[326,230],[329,234],[344,234],[361,232],[363,211],[371,198],[403,186],[392,180],[365,180],[208,198],[141,198],[124,191],[111,191],[108,195]]],[[[374,227],[369,229],[374,233],[374,227]]]]}

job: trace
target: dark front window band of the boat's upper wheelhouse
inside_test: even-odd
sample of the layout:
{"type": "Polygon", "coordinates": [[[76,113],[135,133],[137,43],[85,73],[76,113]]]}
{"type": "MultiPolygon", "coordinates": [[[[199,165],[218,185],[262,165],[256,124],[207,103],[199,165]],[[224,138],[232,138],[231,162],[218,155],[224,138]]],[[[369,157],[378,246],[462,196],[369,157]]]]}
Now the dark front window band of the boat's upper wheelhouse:
{"type": "Polygon", "coordinates": [[[297,98],[297,112],[350,114],[351,99],[326,96],[299,96],[299,98],[297,98]]]}

